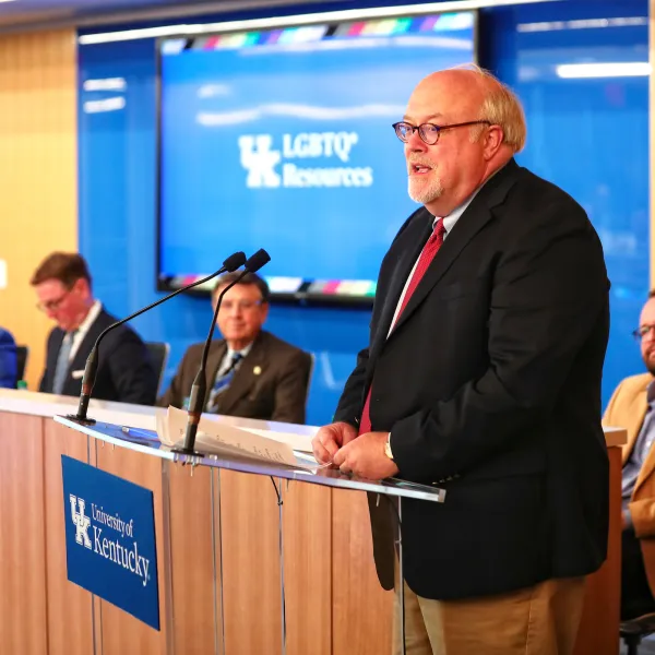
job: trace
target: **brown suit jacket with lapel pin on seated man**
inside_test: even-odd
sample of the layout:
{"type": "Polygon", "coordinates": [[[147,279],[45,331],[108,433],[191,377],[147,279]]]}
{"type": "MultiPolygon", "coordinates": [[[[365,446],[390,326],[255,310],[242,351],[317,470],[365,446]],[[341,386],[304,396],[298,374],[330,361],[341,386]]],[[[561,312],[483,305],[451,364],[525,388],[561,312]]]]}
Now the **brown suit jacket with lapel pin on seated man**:
{"type": "MultiPolygon", "coordinates": [[[[190,346],[158,405],[182,407],[191,393],[204,344],[190,346]]],[[[216,340],[207,356],[207,392],[225,356],[227,345],[216,340]]],[[[218,396],[218,413],[243,418],[305,422],[305,404],[311,372],[311,356],[262,331],[235,372],[229,386],[218,396]],[[259,372],[258,372],[259,371],[259,372]]]]}

